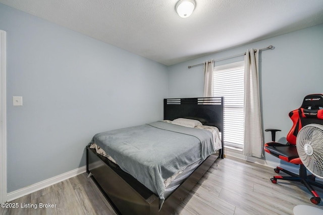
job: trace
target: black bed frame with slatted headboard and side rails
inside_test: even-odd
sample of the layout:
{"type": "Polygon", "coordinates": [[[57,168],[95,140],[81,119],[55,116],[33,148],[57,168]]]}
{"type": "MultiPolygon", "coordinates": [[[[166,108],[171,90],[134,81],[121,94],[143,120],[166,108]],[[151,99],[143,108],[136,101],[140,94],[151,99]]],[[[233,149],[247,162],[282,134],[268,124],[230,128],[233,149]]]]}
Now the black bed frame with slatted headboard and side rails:
{"type": "MultiPolygon", "coordinates": [[[[223,145],[223,97],[164,99],[164,119],[190,118],[217,126],[223,145]]],[[[172,214],[223,150],[210,155],[171,195],[158,211],[159,198],[109,159],[86,147],[87,173],[119,214],[172,214]]]]}

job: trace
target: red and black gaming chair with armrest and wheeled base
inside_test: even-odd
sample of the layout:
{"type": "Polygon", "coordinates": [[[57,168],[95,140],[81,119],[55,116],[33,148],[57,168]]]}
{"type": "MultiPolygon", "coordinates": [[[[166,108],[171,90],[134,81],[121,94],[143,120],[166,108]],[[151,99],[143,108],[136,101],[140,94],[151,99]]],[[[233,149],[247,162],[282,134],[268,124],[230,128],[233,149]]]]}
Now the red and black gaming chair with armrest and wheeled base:
{"type": "MultiPolygon", "coordinates": [[[[293,127],[287,134],[287,144],[280,144],[275,141],[276,131],[281,131],[279,129],[266,129],[265,131],[272,132],[272,142],[268,142],[264,145],[264,151],[270,153],[271,155],[278,157],[279,159],[300,165],[299,175],[287,171],[281,167],[274,169],[276,173],[283,171],[290,176],[274,176],[271,181],[276,184],[277,179],[289,180],[289,181],[299,181],[305,185],[305,187],[312,193],[313,197],[310,199],[312,203],[318,204],[320,202],[320,197],[312,188],[311,185],[320,187],[323,189],[323,184],[315,182],[315,176],[307,175],[305,166],[300,160],[297,149],[296,149],[296,137],[298,131],[305,125],[316,123],[323,124],[323,94],[311,94],[307,95],[300,108],[293,110],[289,113],[289,117],[293,121],[293,127]]],[[[323,140],[322,140],[323,141],[323,140]]]]}

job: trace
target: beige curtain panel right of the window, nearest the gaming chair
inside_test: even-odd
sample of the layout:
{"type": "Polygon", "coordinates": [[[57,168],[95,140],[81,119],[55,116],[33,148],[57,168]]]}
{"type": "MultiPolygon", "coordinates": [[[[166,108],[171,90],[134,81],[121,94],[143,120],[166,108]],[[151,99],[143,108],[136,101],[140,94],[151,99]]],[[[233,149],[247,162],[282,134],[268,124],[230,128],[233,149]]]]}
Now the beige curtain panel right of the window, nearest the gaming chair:
{"type": "Polygon", "coordinates": [[[262,127],[259,95],[259,49],[247,50],[244,71],[244,144],[243,154],[263,157],[262,127]]]}

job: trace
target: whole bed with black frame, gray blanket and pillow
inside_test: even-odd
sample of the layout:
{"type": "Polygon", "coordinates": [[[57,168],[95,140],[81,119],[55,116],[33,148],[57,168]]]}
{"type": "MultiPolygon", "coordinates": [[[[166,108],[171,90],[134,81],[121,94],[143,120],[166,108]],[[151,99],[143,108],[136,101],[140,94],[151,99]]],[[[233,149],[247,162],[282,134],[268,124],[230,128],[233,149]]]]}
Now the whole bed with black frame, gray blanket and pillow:
{"type": "MultiPolygon", "coordinates": [[[[223,97],[164,99],[163,121],[119,129],[118,132],[115,130],[95,134],[91,145],[86,147],[87,173],[119,214],[171,214],[214,161],[219,157],[223,158],[223,120],[223,97]],[[179,118],[191,119],[191,121],[197,120],[203,124],[199,125],[201,127],[217,127],[220,131],[221,146],[216,147],[215,144],[210,145],[211,147],[207,144],[203,145],[204,135],[205,139],[214,140],[214,133],[210,134],[211,132],[204,131],[204,128],[196,129],[198,126],[196,128],[184,128],[181,125],[176,125],[175,121],[179,118]],[[142,134],[142,130],[148,130],[149,133],[137,135],[141,138],[139,140],[136,138],[134,142],[139,145],[128,147],[128,141],[134,139],[135,133],[142,134]],[[110,138],[112,133],[117,134],[117,136],[128,136],[128,139],[124,140],[126,144],[121,146],[123,148],[121,148],[120,154],[115,154],[114,148],[111,148],[111,146],[106,148],[100,145],[104,149],[104,153],[109,151],[107,152],[109,155],[99,153],[97,149],[94,149],[95,147],[93,148],[93,142],[110,138]],[[132,136],[129,133],[132,133],[132,136]],[[157,145],[151,141],[150,134],[158,139],[157,145]],[[182,140],[185,140],[185,142],[181,142],[182,140]],[[198,141],[198,149],[196,148],[196,140],[198,141]],[[170,155],[174,153],[173,157],[169,156],[173,160],[169,162],[167,159],[165,159],[165,162],[158,160],[159,153],[163,153],[164,148],[170,148],[167,144],[176,145],[174,149],[172,148],[172,153],[165,152],[170,155]],[[178,147],[181,144],[182,147],[178,147]],[[159,145],[163,145],[164,148],[159,148],[159,145]],[[155,149],[151,147],[158,147],[158,150],[151,150],[155,149]],[[194,152],[194,147],[197,150],[196,152],[194,152]],[[130,148],[140,150],[129,151],[129,153],[130,148]],[[184,149],[189,149],[189,152],[182,152],[184,149]],[[148,151],[145,152],[145,150],[148,151]],[[143,169],[142,172],[139,172],[136,169],[138,166],[136,162],[141,162],[137,159],[140,160],[142,155],[137,156],[137,154],[150,154],[153,151],[158,151],[158,154],[151,154],[150,157],[148,156],[149,158],[144,158],[143,163],[147,164],[147,170],[143,169]],[[128,154],[123,154],[123,152],[127,152],[131,156],[125,157],[128,154]],[[192,157],[187,156],[187,154],[191,154],[192,157]],[[199,159],[197,154],[200,157],[199,159]],[[156,165],[153,163],[155,160],[156,165]],[[159,166],[159,163],[166,163],[166,167],[159,166]],[[167,165],[167,163],[170,165],[167,165]],[[162,179],[163,181],[161,181],[162,179]],[[150,180],[154,180],[154,182],[152,183],[150,180]]],[[[116,136],[110,138],[109,142],[112,139],[116,139],[116,136]]],[[[164,158],[163,156],[166,157],[166,155],[161,154],[161,158],[164,158]]]]}

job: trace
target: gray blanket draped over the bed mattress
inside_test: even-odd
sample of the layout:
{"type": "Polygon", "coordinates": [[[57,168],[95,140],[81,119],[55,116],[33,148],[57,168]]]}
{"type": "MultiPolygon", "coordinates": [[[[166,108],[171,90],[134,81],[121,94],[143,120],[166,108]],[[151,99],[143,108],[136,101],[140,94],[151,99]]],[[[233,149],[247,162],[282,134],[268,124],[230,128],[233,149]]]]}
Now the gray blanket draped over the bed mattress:
{"type": "Polygon", "coordinates": [[[165,179],[215,153],[210,131],[161,121],[97,133],[92,143],[156,193],[159,208],[165,200],[165,179]]]}

